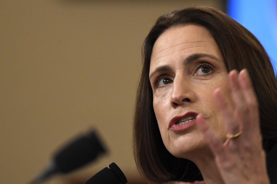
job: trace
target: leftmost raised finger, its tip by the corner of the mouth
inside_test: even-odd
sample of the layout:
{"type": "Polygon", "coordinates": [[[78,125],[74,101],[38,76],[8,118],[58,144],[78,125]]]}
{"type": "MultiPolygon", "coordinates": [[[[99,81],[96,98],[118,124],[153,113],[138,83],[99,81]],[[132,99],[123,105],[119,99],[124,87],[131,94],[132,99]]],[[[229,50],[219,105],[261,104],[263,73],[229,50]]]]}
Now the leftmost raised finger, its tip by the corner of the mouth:
{"type": "Polygon", "coordinates": [[[207,121],[203,118],[203,115],[198,114],[196,116],[196,124],[207,140],[212,152],[214,153],[214,156],[218,157],[220,160],[226,160],[226,152],[224,150],[222,141],[209,127],[207,121]]]}

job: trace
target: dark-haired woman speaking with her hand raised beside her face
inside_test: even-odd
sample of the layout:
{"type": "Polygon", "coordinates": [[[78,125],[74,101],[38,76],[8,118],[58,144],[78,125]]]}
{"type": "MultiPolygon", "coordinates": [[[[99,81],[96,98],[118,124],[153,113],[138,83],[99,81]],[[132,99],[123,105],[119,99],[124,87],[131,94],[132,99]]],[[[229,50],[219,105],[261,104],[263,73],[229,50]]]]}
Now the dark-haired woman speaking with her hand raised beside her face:
{"type": "Polygon", "coordinates": [[[134,155],[146,179],[277,183],[276,78],[252,33],[217,9],[181,9],[158,18],[143,60],[134,155]]]}

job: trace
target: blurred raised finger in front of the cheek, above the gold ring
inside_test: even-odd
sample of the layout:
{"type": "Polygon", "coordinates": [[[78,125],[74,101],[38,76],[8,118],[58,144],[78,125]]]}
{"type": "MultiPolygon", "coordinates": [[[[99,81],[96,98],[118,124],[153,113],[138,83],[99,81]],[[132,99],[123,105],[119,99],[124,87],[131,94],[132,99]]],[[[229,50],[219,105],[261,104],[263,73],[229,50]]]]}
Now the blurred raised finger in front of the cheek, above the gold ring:
{"type": "Polygon", "coordinates": [[[224,126],[226,128],[227,133],[238,133],[241,130],[240,123],[235,119],[233,115],[233,110],[231,109],[230,104],[227,103],[225,97],[223,97],[220,89],[214,90],[214,97],[222,114],[224,126]]]}

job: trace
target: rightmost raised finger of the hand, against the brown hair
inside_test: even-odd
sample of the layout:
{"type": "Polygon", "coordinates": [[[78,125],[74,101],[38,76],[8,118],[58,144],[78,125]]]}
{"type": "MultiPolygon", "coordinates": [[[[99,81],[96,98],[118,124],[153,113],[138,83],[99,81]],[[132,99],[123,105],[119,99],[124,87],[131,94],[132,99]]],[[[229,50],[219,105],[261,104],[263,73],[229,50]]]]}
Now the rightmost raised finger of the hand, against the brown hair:
{"type": "Polygon", "coordinates": [[[248,113],[250,114],[248,121],[243,122],[244,126],[249,127],[250,129],[257,127],[259,128],[259,106],[249,74],[246,69],[239,73],[238,82],[244,93],[246,103],[248,104],[248,113]]]}

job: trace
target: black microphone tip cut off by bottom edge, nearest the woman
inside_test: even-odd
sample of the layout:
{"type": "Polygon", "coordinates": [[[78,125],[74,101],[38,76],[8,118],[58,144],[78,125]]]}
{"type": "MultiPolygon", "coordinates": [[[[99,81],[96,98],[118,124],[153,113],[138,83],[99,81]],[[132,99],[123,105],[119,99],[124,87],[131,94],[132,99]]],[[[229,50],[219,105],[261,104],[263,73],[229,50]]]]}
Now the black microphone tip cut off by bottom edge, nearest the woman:
{"type": "Polygon", "coordinates": [[[127,179],[114,162],[91,177],[84,184],[125,184],[127,179]]]}

